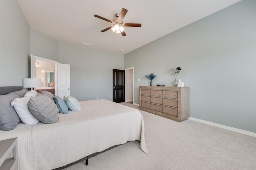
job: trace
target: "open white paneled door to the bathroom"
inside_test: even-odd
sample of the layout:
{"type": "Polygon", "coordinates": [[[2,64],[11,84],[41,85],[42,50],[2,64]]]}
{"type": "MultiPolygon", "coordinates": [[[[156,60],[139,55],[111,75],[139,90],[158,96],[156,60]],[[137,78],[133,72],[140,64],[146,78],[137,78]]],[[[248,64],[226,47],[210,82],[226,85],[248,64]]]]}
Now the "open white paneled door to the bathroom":
{"type": "Polygon", "coordinates": [[[70,96],[70,64],[57,64],[57,86],[58,96],[70,96]]]}

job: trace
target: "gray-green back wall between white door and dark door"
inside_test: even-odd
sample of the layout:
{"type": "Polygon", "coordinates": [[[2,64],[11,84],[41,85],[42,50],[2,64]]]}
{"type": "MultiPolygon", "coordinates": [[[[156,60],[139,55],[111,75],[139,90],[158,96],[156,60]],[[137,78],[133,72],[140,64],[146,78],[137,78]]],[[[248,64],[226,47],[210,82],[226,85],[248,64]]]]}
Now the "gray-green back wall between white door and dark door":
{"type": "Polygon", "coordinates": [[[60,63],[70,64],[70,96],[113,100],[113,69],[124,69],[124,55],[60,43],[60,63]]]}

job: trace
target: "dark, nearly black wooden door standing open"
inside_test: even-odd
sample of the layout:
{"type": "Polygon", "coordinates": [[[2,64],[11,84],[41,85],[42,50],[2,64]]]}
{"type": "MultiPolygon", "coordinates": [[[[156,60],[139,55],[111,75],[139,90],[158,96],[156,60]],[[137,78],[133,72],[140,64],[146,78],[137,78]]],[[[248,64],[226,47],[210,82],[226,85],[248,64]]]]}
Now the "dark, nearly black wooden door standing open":
{"type": "Polygon", "coordinates": [[[113,69],[113,102],[124,102],[124,70],[113,69]]]}

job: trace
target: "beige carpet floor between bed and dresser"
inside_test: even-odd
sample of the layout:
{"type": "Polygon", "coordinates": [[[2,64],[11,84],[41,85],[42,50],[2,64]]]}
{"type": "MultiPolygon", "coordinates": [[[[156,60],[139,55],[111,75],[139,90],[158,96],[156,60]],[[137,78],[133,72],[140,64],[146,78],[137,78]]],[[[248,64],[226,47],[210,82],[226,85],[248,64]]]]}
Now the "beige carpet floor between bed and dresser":
{"type": "MultiPolygon", "coordinates": [[[[138,109],[138,106],[121,103],[138,109]]],[[[256,170],[256,138],[145,111],[148,154],[131,141],[65,170],[256,170]]]]}

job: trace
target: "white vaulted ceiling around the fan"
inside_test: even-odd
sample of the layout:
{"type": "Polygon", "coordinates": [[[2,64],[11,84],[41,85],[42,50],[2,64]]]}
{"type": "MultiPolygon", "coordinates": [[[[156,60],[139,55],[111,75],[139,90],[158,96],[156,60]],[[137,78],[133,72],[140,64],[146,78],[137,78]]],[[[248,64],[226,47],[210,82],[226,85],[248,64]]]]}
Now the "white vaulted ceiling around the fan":
{"type": "Polygon", "coordinates": [[[240,0],[18,0],[30,27],[58,41],[126,54],[168,33],[222,10],[240,0]],[[125,37],[110,29],[122,8],[128,10],[125,37]],[[82,45],[82,42],[91,46],[82,45]],[[120,51],[122,49],[123,51],[120,51]]]}

